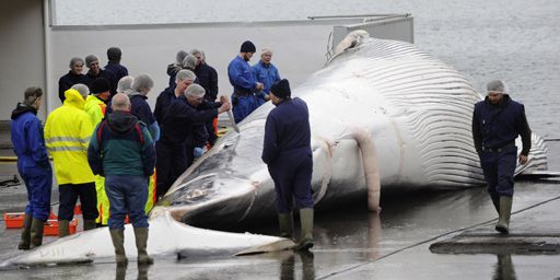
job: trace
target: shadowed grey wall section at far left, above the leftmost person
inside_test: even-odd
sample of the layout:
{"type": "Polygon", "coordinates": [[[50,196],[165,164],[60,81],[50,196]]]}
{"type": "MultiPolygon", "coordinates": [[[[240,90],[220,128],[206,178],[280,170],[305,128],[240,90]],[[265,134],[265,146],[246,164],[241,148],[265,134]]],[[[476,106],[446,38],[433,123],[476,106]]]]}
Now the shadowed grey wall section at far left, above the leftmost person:
{"type": "MultiPolygon", "coordinates": [[[[25,89],[45,90],[43,19],[43,1],[0,1],[0,120],[10,119],[25,89]]],[[[44,108],[38,114],[43,119],[44,108]]]]}

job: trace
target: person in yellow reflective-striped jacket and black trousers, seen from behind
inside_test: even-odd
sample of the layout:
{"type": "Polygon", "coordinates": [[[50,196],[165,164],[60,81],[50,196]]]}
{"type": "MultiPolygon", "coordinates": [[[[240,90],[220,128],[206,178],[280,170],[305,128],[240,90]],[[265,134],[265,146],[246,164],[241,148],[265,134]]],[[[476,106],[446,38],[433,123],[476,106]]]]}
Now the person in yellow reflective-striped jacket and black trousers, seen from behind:
{"type": "Polygon", "coordinates": [[[95,229],[97,195],[95,178],[88,163],[88,147],[93,132],[90,116],[83,110],[84,97],[77,90],[65,92],[65,103],[52,110],[45,124],[45,142],[54,159],[59,186],[58,235],[69,235],[69,223],[78,197],[82,203],[84,230],[95,229]]]}

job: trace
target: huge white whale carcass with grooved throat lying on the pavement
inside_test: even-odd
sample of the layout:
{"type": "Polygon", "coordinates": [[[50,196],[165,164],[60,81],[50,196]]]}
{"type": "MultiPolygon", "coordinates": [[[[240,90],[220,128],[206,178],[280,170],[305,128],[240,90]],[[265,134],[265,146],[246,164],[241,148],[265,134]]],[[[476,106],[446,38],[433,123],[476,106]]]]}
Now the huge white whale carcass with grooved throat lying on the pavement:
{"type": "MultiPolygon", "coordinates": [[[[375,211],[380,188],[485,184],[471,139],[474,104],[482,96],[460,73],[411,44],[363,31],[349,34],[337,50],[292,89],[310,109],[317,207],[368,196],[375,211]]],[[[159,207],[209,228],[273,217],[273,184],[260,160],[272,108],[262,105],[240,124],[240,133],[222,137],[159,207]]],[[[544,140],[533,135],[532,142],[529,162],[516,174],[547,167],[544,140]]]]}

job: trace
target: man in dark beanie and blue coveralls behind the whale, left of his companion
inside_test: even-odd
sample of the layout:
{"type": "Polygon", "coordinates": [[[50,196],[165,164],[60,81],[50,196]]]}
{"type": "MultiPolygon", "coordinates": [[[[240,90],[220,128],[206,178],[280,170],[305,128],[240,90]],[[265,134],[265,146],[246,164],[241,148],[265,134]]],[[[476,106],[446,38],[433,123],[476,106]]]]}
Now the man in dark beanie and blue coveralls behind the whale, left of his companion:
{"type": "Polygon", "coordinates": [[[250,40],[245,40],[241,45],[240,55],[228,66],[228,77],[233,85],[232,105],[235,124],[262,104],[255,96],[255,92],[262,91],[262,83],[257,82],[248,63],[255,51],[255,45],[250,40]]]}

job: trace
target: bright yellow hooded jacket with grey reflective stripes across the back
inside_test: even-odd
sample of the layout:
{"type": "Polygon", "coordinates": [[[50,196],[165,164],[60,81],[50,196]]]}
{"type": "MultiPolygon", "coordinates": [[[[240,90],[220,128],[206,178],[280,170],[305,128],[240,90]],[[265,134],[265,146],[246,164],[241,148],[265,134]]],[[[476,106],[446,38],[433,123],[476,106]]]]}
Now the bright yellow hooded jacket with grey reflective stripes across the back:
{"type": "Polygon", "coordinates": [[[88,163],[88,145],[93,132],[85,101],[77,90],[65,92],[65,103],[52,110],[45,124],[45,142],[55,162],[59,185],[94,182],[88,163]]]}

